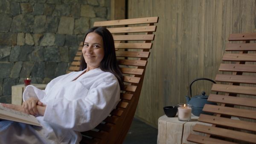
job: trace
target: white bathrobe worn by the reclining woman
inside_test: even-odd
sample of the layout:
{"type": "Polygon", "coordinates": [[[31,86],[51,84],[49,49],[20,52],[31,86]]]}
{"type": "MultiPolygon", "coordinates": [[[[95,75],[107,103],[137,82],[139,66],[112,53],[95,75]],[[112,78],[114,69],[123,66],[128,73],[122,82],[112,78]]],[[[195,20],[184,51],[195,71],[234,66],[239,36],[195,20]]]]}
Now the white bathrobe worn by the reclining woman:
{"type": "Polygon", "coordinates": [[[59,76],[45,90],[27,86],[23,101],[35,97],[47,105],[44,116],[36,115],[43,127],[1,121],[0,144],[79,143],[80,132],[91,130],[103,121],[116,107],[120,95],[113,74],[97,68],[81,75],[84,71],[59,76]]]}

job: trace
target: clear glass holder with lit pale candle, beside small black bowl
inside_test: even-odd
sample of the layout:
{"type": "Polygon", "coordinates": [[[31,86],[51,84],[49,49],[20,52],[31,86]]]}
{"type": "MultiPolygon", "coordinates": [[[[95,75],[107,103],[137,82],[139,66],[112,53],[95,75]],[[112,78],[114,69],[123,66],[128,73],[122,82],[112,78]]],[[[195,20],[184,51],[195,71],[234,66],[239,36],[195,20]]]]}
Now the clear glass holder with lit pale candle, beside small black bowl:
{"type": "Polygon", "coordinates": [[[191,121],[192,104],[178,104],[178,120],[191,121]]]}

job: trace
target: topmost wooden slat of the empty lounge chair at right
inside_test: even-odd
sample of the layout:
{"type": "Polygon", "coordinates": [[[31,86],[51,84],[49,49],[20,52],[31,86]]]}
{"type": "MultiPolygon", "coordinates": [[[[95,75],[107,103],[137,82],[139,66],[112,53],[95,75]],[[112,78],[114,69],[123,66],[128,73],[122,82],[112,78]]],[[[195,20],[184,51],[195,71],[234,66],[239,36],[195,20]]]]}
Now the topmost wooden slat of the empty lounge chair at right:
{"type": "Polygon", "coordinates": [[[256,40],[256,33],[230,34],[229,41],[256,40]]]}

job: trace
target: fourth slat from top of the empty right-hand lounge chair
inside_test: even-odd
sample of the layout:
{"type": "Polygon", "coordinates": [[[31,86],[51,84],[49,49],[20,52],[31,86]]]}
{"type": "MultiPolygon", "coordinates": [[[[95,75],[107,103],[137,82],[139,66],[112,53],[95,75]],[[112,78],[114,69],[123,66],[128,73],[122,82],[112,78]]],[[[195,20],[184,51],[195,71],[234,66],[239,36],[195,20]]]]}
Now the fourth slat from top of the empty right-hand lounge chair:
{"type": "Polygon", "coordinates": [[[221,63],[219,71],[228,72],[256,72],[256,65],[252,64],[225,64],[221,63]]]}

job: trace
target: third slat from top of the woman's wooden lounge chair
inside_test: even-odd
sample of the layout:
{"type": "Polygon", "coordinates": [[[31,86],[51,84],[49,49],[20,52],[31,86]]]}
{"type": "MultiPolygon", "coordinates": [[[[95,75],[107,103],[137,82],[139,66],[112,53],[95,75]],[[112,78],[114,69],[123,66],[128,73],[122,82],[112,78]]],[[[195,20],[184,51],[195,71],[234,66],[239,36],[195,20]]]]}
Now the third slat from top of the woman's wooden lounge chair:
{"type": "Polygon", "coordinates": [[[114,40],[154,40],[152,35],[113,35],[114,40]]]}

